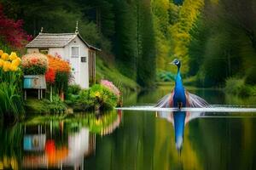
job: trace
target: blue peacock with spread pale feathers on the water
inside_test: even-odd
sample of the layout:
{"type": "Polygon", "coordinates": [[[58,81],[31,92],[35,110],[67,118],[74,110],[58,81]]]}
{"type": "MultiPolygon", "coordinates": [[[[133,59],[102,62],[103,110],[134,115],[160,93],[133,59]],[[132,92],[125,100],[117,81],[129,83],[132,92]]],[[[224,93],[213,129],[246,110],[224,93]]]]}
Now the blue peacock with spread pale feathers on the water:
{"type": "Polygon", "coordinates": [[[183,81],[180,74],[181,61],[174,59],[171,64],[177,66],[175,87],[172,90],[172,93],[167,94],[162,99],[160,99],[155,107],[178,109],[181,109],[182,107],[209,107],[205,99],[201,99],[201,97],[195,94],[190,94],[183,87],[183,81]]]}

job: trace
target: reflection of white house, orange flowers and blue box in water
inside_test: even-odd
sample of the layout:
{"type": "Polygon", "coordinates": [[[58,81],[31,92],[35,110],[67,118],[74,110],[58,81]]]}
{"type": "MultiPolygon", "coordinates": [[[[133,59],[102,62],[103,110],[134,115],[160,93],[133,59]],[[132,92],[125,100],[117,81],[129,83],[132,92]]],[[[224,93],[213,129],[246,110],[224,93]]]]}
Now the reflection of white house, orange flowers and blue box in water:
{"type": "Polygon", "coordinates": [[[67,134],[61,133],[61,128],[58,133],[51,132],[49,125],[26,127],[22,167],[84,169],[84,157],[96,149],[95,134],[86,127],[67,134]]]}

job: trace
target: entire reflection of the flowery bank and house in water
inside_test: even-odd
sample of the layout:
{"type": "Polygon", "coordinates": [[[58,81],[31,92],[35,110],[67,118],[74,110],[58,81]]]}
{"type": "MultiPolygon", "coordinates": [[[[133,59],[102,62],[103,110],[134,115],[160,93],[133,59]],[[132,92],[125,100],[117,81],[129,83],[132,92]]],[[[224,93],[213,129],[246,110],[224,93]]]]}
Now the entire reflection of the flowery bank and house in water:
{"type": "Polygon", "coordinates": [[[113,133],[121,119],[122,113],[114,111],[1,127],[0,169],[84,169],[84,160],[95,154],[96,134],[113,133]]]}

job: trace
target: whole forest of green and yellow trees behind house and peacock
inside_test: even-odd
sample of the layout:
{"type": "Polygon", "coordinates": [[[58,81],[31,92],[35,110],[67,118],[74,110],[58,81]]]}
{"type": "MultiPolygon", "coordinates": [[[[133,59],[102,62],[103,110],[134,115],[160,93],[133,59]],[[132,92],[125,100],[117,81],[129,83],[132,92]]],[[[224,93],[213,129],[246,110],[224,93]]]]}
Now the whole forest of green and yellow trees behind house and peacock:
{"type": "MultiPolygon", "coordinates": [[[[176,70],[169,63],[175,58],[181,59],[183,77],[194,86],[226,86],[244,94],[256,84],[253,0],[0,2],[0,19],[13,20],[32,37],[41,27],[44,32],[73,32],[78,20],[82,37],[102,48],[104,65],[113,65],[143,88],[153,88],[156,80],[171,81],[176,70]]],[[[22,49],[29,36],[14,42],[10,34],[19,31],[3,20],[0,24],[1,46],[22,49]]]]}

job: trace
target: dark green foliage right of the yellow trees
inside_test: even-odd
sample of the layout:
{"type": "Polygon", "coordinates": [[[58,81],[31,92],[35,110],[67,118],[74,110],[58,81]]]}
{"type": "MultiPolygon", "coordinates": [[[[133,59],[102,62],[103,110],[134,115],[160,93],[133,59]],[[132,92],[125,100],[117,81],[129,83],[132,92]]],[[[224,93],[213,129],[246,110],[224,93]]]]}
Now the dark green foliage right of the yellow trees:
{"type": "Polygon", "coordinates": [[[199,85],[222,86],[229,77],[255,83],[255,9],[253,0],[206,1],[190,31],[189,75],[199,85]]]}

